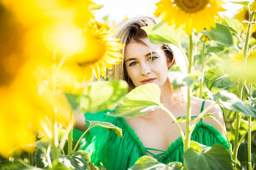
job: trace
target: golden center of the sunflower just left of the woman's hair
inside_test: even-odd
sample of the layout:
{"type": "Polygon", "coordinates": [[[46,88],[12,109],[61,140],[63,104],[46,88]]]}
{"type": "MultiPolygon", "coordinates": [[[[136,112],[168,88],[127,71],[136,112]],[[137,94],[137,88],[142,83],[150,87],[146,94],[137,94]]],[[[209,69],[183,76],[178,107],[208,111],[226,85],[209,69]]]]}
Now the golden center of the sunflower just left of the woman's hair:
{"type": "Polygon", "coordinates": [[[74,55],[73,59],[77,65],[84,67],[99,62],[106,53],[106,44],[97,37],[86,37],[83,50],[74,55]]]}

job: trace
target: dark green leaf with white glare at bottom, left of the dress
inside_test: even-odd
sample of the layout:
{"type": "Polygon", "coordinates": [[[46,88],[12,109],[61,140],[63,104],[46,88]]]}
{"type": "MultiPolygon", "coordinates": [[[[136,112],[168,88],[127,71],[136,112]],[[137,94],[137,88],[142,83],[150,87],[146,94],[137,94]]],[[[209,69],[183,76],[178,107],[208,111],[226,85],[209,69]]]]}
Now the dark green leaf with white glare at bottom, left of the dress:
{"type": "Polygon", "coordinates": [[[90,157],[84,150],[78,150],[58,160],[63,163],[65,167],[72,168],[72,170],[85,170],[90,162],[90,157]]]}

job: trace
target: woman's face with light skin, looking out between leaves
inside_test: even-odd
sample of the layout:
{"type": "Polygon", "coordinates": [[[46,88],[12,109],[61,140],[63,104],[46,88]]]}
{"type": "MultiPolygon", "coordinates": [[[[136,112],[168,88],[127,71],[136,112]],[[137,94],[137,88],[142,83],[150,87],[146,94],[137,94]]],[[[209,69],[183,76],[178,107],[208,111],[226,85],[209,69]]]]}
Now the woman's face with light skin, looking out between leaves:
{"type": "Polygon", "coordinates": [[[161,45],[151,44],[148,38],[143,39],[143,42],[149,48],[135,41],[126,46],[124,57],[126,70],[136,87],[155,83],[161,88],[169,83],[167,75],[171,61],[167,59],[161,45]]]}

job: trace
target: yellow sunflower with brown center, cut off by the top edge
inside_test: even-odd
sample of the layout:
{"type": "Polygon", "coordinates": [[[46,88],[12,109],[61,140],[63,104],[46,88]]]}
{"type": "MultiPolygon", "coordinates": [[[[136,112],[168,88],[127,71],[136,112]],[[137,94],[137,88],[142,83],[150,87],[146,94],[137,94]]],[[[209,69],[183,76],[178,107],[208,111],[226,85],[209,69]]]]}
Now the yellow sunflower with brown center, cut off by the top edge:
{"type": "Polygon", "coordinates": [[[222,0],[161,0],[156,3],[154,14],[191,34],[193,29],[200,32],[215,27],[220,18],[218,12],[225,11],[222,4],[225,4],[222,0]]]}

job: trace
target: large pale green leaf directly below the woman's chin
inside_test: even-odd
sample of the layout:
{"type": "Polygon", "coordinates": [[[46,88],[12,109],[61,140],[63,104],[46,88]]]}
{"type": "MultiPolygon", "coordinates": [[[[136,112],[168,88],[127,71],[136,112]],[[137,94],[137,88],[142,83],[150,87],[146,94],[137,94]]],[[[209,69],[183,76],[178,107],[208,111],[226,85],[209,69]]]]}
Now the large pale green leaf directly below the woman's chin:
{"type": "Polygon", "coordinates": [[[120,101],[110,116],[137,117],[161,107],[160,88],[157,84],[147,83],[130,91],[124,100],[120,101]]]}

